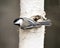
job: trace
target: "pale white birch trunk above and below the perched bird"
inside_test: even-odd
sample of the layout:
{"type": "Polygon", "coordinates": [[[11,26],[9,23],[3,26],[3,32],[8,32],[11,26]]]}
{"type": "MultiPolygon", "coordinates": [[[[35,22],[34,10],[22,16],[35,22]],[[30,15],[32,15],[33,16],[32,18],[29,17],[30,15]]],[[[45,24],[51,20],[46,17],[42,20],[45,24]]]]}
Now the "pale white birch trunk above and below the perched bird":
{"type": "MultiPolygon", "coordinates": [[[[30,18],[34,15],[45,17],[44,0],[20,0],[20,17],[30,18]]],[[[19,29],[19,48],[44,48],[45,26],[40,28],[19,29]]]]}

